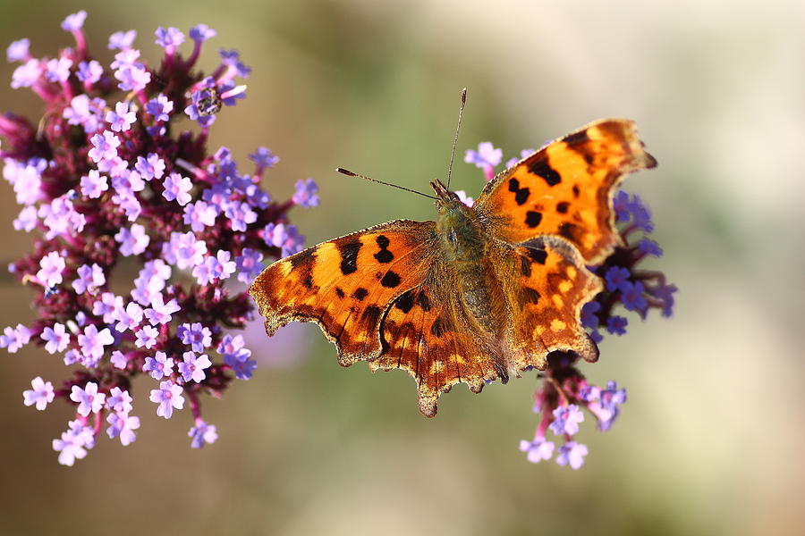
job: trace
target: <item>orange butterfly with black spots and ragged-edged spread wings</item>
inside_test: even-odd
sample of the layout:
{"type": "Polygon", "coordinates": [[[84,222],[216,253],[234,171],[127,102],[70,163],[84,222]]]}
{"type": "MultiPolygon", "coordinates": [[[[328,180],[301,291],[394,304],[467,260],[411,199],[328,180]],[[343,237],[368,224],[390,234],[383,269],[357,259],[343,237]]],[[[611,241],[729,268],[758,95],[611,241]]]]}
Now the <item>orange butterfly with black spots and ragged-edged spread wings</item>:
{"type": "Polygon", "coordinates": [[[595,121],[498,174],[474,205],[435,180],[435,222],[395,220],[309,247],[268,266],[250,295],[269,336],[316,322],[339,364],[407,371],[431,417],[455,383],[479,393],[544,370],[555,350],[597,359],[580,322],[603,289],[588,266],[622,245],[614,189],[656,165],[632,121],[595,121]]]}

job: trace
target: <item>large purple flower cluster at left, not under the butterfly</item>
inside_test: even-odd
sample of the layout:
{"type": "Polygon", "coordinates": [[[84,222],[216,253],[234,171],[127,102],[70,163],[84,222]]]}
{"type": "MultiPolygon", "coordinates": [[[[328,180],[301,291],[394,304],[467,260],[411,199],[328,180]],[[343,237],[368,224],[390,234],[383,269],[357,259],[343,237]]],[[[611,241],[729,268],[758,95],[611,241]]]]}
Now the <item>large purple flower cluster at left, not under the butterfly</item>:
{"type": "Polygon", "coordinates": [[[38,319],[6,327],[0,348],[13,353],[32,341],[72,367],[60,387],[37,377],[23,393],[40,410],[55,398],[75,407],[53,442],[64,465],[86,456],[105,427],[123,445],[135,440],[140,419],[129,391],[141,373],[155,379],[151,411],[167,419],[187,401],[191,446],[216,440],[199,395],[219,396],[257,366],[242,337],[225,331],[252,315],[242,284],[268,258],[301,249],[287,212],[318,205],[310,179],[292,199],[272,200],[260,182],[278,159],[264,147],[251,155],[251,174],[225,147],[208,153],[216,113],[245,96],[236,80],[250,73],[228,50],[211,75],[199,71],[214,29],[190,30],[187,58],[182,31],[157,29],[165,50],[157,63],[132,47],[134,30],[114,33],[114,61],[104,66],[89,53],[86,16],[64,20],[75,46],[54,58],[33,57],[28,39],[8,47],[9,62],[21,63],[12,87],[33,90],[45,113],[37,121],[0,116],[3,176],[22,205],[14,228],[38,234],[33,252],[10,266],[36,292],[38,319]],[[184,116],[198,123],[195,132],[177,130],[184,116]],[[136,278],[120,293],[132,270],[136,278]]]}

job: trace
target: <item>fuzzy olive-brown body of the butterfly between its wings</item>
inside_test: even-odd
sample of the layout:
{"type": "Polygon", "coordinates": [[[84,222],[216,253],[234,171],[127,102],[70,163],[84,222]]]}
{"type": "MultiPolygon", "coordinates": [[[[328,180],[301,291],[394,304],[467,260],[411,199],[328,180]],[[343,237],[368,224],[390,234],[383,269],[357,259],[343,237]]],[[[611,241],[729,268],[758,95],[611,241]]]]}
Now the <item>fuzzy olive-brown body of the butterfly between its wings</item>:
{"type": "Polygon", "coordinates": [[[447,190],[441,182],[431,183],[436,201],[436,234],[439,238],[440,256],[453,269],[467,313],[487,333],[494,334],[499,326],[494,322],[489,295],[491,285],[484,264],[487,256],[487,233],[482,228],[478,214],[471,206],[464,205],[455,193],[447,190]]]}

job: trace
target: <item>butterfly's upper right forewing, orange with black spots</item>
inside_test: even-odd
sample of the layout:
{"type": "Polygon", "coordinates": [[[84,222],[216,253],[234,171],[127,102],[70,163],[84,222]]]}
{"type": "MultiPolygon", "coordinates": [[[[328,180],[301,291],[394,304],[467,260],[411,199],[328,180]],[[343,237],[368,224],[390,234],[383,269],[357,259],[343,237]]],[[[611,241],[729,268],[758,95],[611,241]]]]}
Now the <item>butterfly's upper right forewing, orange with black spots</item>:
{"type": "Polygon", "coordinates": [[[621,244],[614,188],[627,173],[656,165],[634,122],[595,121],[497,175],[475,208],[498,239],[520,244],[555,235],[597,264],[621,244]]]}

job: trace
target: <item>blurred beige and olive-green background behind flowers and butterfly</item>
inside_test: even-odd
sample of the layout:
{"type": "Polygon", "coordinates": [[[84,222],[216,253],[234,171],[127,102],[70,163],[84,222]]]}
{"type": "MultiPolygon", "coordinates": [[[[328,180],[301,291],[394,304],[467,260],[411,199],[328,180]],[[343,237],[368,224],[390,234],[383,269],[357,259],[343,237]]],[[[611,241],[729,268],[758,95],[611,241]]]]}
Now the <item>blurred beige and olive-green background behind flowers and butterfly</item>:
{"type": "MultiPolygon", "coordinates": [[[[219,46],[242,53],[248,98],[221,113],[210,145],[244,166],[271,147],[276,198],[315,178],[320,207],[292,213],[309,244],[433,218],[427,200],[333,170],[426,189],[445,174],[461,88],[461,155],[491,140],[507,159],[599,117],[634,119],[660,165],[626,187],[652,206],[665,248],[654,264],[680,293],[673,319],[631,317],[584,365],[629,402],[611,431],[583,423],[577,472],[517,450],[536,425],[533,376],[480,396],[458,386],[428,420],[405,373],[342,369],[310,325],[270,343],[250,330],[254,379],[203,400],[216,444],[189,448],[187,411],[153,415],[146,378],[138,440],[102,438],[63,467],[50,443],[70,409],[39,413],[21,391],[68,371],[30,345],[0,364],[0,532],[805,533],[805,4],[4,0],[0,40],[55,54],[72,46],[59,23],[80,9],[106,63],[114,31],[137,29],[153,63],[157,26],[198,22],[218,32],[200,66],[215,67],[219,46]]],[[[13,66],[0,72],[11,80],[13,66]]],[[[41,114],[7,83],[0,104],[41,114]]],[[[476,197],[481,173],[460,159],[453,185],[476,197]]],[[[0,188],[6,264],[30,237],[13,232],[12,188],[0,188]]],[[[30,299],[3,277],[0,326],[30,322],[30,299]]]]}

